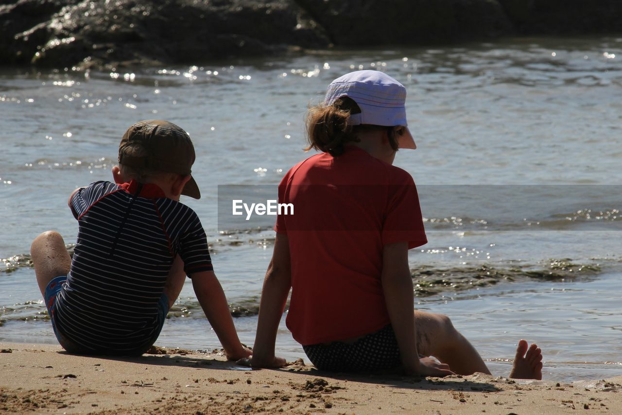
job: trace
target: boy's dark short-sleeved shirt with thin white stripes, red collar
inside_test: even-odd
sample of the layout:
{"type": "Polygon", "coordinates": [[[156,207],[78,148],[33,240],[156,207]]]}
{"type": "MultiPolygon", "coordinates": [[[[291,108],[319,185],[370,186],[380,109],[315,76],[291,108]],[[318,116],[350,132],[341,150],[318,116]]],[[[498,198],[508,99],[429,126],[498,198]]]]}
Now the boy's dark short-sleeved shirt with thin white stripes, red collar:
{"type": "Polygon", "coordinates": [[[184,271],[213,270],[197,214],[154,184],[99,181],[70,201],[78,240],[57,295],[57,329],[86,350],[134,350],[154,335],[157,303],[179,254],[184,271]]]}

